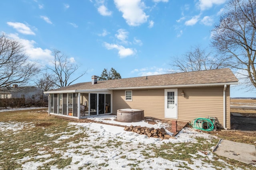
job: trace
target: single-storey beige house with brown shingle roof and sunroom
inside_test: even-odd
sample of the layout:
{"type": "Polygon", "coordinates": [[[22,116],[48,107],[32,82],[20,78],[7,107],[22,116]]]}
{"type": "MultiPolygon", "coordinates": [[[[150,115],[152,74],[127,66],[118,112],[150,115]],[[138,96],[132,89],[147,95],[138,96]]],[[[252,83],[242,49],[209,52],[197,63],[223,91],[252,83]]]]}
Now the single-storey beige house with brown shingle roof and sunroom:
{"type": "Polygon", "coordinates": [[[230,85],[238,79],[229,68],[78,83],[45,92],[49,114],[81,119],[143,109],[146,117],[192,121],[216,117],[230,129],[230,85]],[[78,109],[81,108],[81,109],[78,109]]]}

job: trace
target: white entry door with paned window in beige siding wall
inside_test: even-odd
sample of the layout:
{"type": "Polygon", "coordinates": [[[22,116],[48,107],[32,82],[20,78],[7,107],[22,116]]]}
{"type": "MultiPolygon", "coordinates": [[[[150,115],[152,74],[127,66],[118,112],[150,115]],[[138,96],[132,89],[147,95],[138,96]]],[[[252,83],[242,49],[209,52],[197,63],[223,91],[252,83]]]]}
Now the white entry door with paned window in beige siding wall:
{"type": "Polygon", "coordinates": [[[177,102],[178,102],[178,89],[165,89],[164,90],[164,112],[166,118],[177,119],[177,102]]]}

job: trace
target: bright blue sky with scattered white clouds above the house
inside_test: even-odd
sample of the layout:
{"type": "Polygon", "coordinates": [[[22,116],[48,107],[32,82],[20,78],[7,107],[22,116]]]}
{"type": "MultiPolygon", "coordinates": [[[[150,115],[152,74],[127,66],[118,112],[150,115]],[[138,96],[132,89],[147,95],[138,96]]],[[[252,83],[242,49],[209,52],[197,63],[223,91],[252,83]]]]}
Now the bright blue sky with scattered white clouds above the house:
{"type": "MultiPolygon", "coordinates": [[[[0,31],[44,66],[58,49],[81,64],[76,80],[102,70],[122,78],[166,74],[194,45],[208,48],[226,0],[2,0],[0,31]]],[[[240,87],[241,88],[241,87],[240,87]]],[[[231,97],[255,97],[232,86],[231,97]]]]}

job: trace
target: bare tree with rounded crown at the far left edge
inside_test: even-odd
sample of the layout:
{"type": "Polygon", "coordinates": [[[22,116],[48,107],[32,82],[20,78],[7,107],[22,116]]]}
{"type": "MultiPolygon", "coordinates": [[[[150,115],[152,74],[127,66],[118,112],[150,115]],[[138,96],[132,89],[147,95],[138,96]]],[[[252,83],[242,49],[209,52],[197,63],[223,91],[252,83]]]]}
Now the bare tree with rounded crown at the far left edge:
{"type": "Polygon", "coordinates": [[[28,83],[38,72],[39,68],[28,61],[20,42],[0,35],[0,87],[28,83]]]}

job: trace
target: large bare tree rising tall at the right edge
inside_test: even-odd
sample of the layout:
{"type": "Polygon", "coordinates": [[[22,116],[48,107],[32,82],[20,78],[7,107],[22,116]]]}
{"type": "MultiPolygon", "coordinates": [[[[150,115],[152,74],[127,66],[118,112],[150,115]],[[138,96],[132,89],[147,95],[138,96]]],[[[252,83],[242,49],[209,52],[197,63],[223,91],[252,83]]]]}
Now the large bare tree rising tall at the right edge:
{"type": "Polygon", "coordinates": [[[232,0],[212,30],[212,45],[256,88],[256,0],[232,0]]]}

